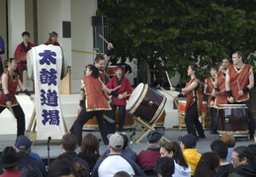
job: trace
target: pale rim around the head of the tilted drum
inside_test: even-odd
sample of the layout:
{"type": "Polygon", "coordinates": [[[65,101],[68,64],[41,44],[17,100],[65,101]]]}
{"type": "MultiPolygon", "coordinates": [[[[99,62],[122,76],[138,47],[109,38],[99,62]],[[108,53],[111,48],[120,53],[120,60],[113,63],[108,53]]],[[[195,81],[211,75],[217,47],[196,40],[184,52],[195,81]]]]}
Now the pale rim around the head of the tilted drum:
{"type": "MultiPolygon", "coordinates": [[[[132,106],[130,106],[128,108],[128,103],[127,103],[127,106],[126,106],[126,109],[128,110],[128,112],[130,114],[132,114],[133,112],[135,112],[135,110],[137,109],[137,107],[140,105],[140,103],[142,102],[142,100],[144,99],[145,97],[145,94],[148,90],[148,85],[147,84],[143,84],[143,83],[140,83],[139,84],[140,86],[142,86],[142,91],[140,92],[139,96],[137,97],[137,99],[134,101],[134,104],[132,106]]],[[[138,85],[138,86],[139,86],[138,85]]],[[[132,93],[134,93],[135,91],[132,91],[132,93]]],[[[132,96],[132,93],[130,95],[130,97],[132,96]]],[[[130,101],[130,97],[128,99],[128,101],[130,101]]]]}

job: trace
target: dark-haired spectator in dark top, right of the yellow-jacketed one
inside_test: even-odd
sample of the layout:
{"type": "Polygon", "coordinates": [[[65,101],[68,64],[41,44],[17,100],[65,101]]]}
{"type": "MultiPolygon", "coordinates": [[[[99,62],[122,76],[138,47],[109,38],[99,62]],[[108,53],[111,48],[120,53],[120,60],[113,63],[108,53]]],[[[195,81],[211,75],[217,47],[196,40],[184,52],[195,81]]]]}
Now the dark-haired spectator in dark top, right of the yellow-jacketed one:
{"type": "Polygon", "coordinates": [[[233,165],[225,160],[227,155],[225,143],[221,140],[215,140],[211,144],[211,149],[219,157],[219,167],[216,176],[226,177],[233,170],[233,165]]]}

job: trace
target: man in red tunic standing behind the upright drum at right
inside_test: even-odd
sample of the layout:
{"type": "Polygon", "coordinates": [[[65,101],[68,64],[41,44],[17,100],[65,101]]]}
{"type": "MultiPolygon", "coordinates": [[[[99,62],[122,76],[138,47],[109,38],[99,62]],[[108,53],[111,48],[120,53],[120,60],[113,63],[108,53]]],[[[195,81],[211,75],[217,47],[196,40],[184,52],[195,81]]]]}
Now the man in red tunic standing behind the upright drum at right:
{"type": "Polygon", "coordinates": [[[254,139],[255,121],[251,112],[250,89],[254,86],[253,68],[243,63],[243,53],[236,51],[232,54],[233,65],[227,67],[225,89],[228,103],[246,104],[248,107],[249,135],[254,139]]]}

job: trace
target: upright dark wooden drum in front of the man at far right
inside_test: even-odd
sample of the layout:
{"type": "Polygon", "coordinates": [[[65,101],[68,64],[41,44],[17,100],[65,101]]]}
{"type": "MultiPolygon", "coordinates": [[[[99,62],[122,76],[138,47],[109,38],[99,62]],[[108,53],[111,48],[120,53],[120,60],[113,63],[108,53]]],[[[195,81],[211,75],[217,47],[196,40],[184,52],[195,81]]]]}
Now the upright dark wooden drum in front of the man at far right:
{"type": "Polygon", "coordinates": [[[245,104],[219,104],[217,106],[217,132],[233,135],[248,134],[248,108],[245,104]]]}

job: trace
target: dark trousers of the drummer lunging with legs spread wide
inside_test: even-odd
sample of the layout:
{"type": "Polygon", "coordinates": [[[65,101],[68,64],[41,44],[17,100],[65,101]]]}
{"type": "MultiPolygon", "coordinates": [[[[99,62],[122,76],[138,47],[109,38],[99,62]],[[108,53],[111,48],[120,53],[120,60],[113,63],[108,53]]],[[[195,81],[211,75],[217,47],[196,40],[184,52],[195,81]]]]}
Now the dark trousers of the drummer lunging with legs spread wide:
{"type": "Polygon", "coordinates": [[[96,116],[98,124],[99,124],[99,129],[101,132],[102,140],[105,145],[109,144],[109,140],[107,138],[108,135],[108,127],[106,123],[103,121],[103,112],[104,110],[99,110],[99,111],[90,111],[86,112],[85,108],[83,107],[82,111],[78,115],[77,119],[75,120],[74,124],[72,125],[70,132],[76,136],[78,145],[81,145],[82,143],[82,129],[84,124],[93,116],[96,116]]]}

